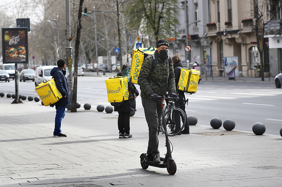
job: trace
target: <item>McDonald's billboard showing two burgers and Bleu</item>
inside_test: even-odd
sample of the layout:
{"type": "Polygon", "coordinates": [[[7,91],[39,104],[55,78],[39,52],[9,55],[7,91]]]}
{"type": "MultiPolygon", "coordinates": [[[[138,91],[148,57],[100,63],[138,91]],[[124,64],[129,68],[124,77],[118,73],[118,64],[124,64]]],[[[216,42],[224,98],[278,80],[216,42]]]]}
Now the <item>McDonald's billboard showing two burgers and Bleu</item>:
{"type": "Polygon", "coordinates": [[[27,27],[2,28],[3,64],[28,63],[27,27]]]}

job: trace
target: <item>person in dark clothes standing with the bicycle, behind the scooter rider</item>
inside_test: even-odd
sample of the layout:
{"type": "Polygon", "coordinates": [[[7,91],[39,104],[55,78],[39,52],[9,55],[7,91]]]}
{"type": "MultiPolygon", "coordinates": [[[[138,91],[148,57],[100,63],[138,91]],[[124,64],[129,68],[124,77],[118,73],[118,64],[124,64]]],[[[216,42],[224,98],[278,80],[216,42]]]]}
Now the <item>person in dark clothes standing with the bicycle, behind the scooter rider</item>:
{"type": "MultiPolygon", "coordinates": [[[[176,85],[176,88],[177,88],[179,78],[180,78],[180,72],[181,72],[181,68],[182,68],[181,57],[177,53],[177,54],[175,54],[171,57],[171,60],[173,62],[175,85],[176,85]]],[[[176,89],[176,92],[178,93],[178,99],[175,102],[175,106],[178,107],[178,108],[181,108],[184,111],[185,116],[186,116],[186,123],[185,123],[184,129],[178,135],[189,134],[190,133],[189,122],[188,122],[187,114],[186,114],[186,111],[185,111],[185,104],[186,104],[185,94],[184,94],[184,91],[179,90],[179,89],[176,89]]]]}

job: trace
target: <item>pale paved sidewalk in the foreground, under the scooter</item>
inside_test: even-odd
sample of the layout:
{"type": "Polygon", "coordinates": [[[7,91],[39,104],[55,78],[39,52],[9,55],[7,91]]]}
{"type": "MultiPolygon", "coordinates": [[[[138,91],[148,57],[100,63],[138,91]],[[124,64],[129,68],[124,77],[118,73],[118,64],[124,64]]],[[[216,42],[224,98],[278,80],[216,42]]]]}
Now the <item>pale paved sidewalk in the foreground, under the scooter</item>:
{"type": "MultiPolygon", "coordinates": [[[[190,126],[190,134],[170,137],[175,175],[165,168],[143,170],[139,156],[146,152],[148,127],[133,116],[133,138],[118,138],[116,112],[66,112],[64,138],[52,137],[55,108],[34,101],[11,104],[0,98],[0,186],[124,187],[280,187],[282,137],[190,126]]],[[[235,121],[236,122],[236,121],[235,121]]],[[[236,129],[236,127],[235,127],[236,129]]],[[[161,156],[165,138],[159,136],[161,156]]]]}

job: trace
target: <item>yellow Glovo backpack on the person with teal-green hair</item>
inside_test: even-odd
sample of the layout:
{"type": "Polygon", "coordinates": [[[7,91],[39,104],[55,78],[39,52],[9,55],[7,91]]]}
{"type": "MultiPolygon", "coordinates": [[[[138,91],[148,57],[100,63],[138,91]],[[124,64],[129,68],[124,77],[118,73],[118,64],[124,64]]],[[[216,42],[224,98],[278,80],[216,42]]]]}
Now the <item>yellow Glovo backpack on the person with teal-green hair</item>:
{"type": "Polygon", "coordinates": [[[124,100],[128,100],[129,91],[127,77],[109,77],[109,79],[106,79],[105,82],[108,93],[108,101],[112,106],[118,106],[124,100]]]}

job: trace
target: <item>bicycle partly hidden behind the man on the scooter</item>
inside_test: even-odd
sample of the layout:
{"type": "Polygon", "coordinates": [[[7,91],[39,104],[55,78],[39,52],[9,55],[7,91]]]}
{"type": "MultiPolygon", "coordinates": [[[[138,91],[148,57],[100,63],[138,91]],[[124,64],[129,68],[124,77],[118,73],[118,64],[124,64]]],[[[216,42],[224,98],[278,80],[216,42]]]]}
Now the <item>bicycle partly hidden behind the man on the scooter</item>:
{"type": "MultiPolygon", "coordinates": [[[[168,136],[175,136],[183,130],[186,123],[186,115],[181,108],[175,106],[175,101],[178,99],[164,96],[168,99],[167,106],[164,108],[164,120],[166,122],[168,136]]],[[[161,132],[164,134],[164,128],[161,127],[161,132]]]]}

